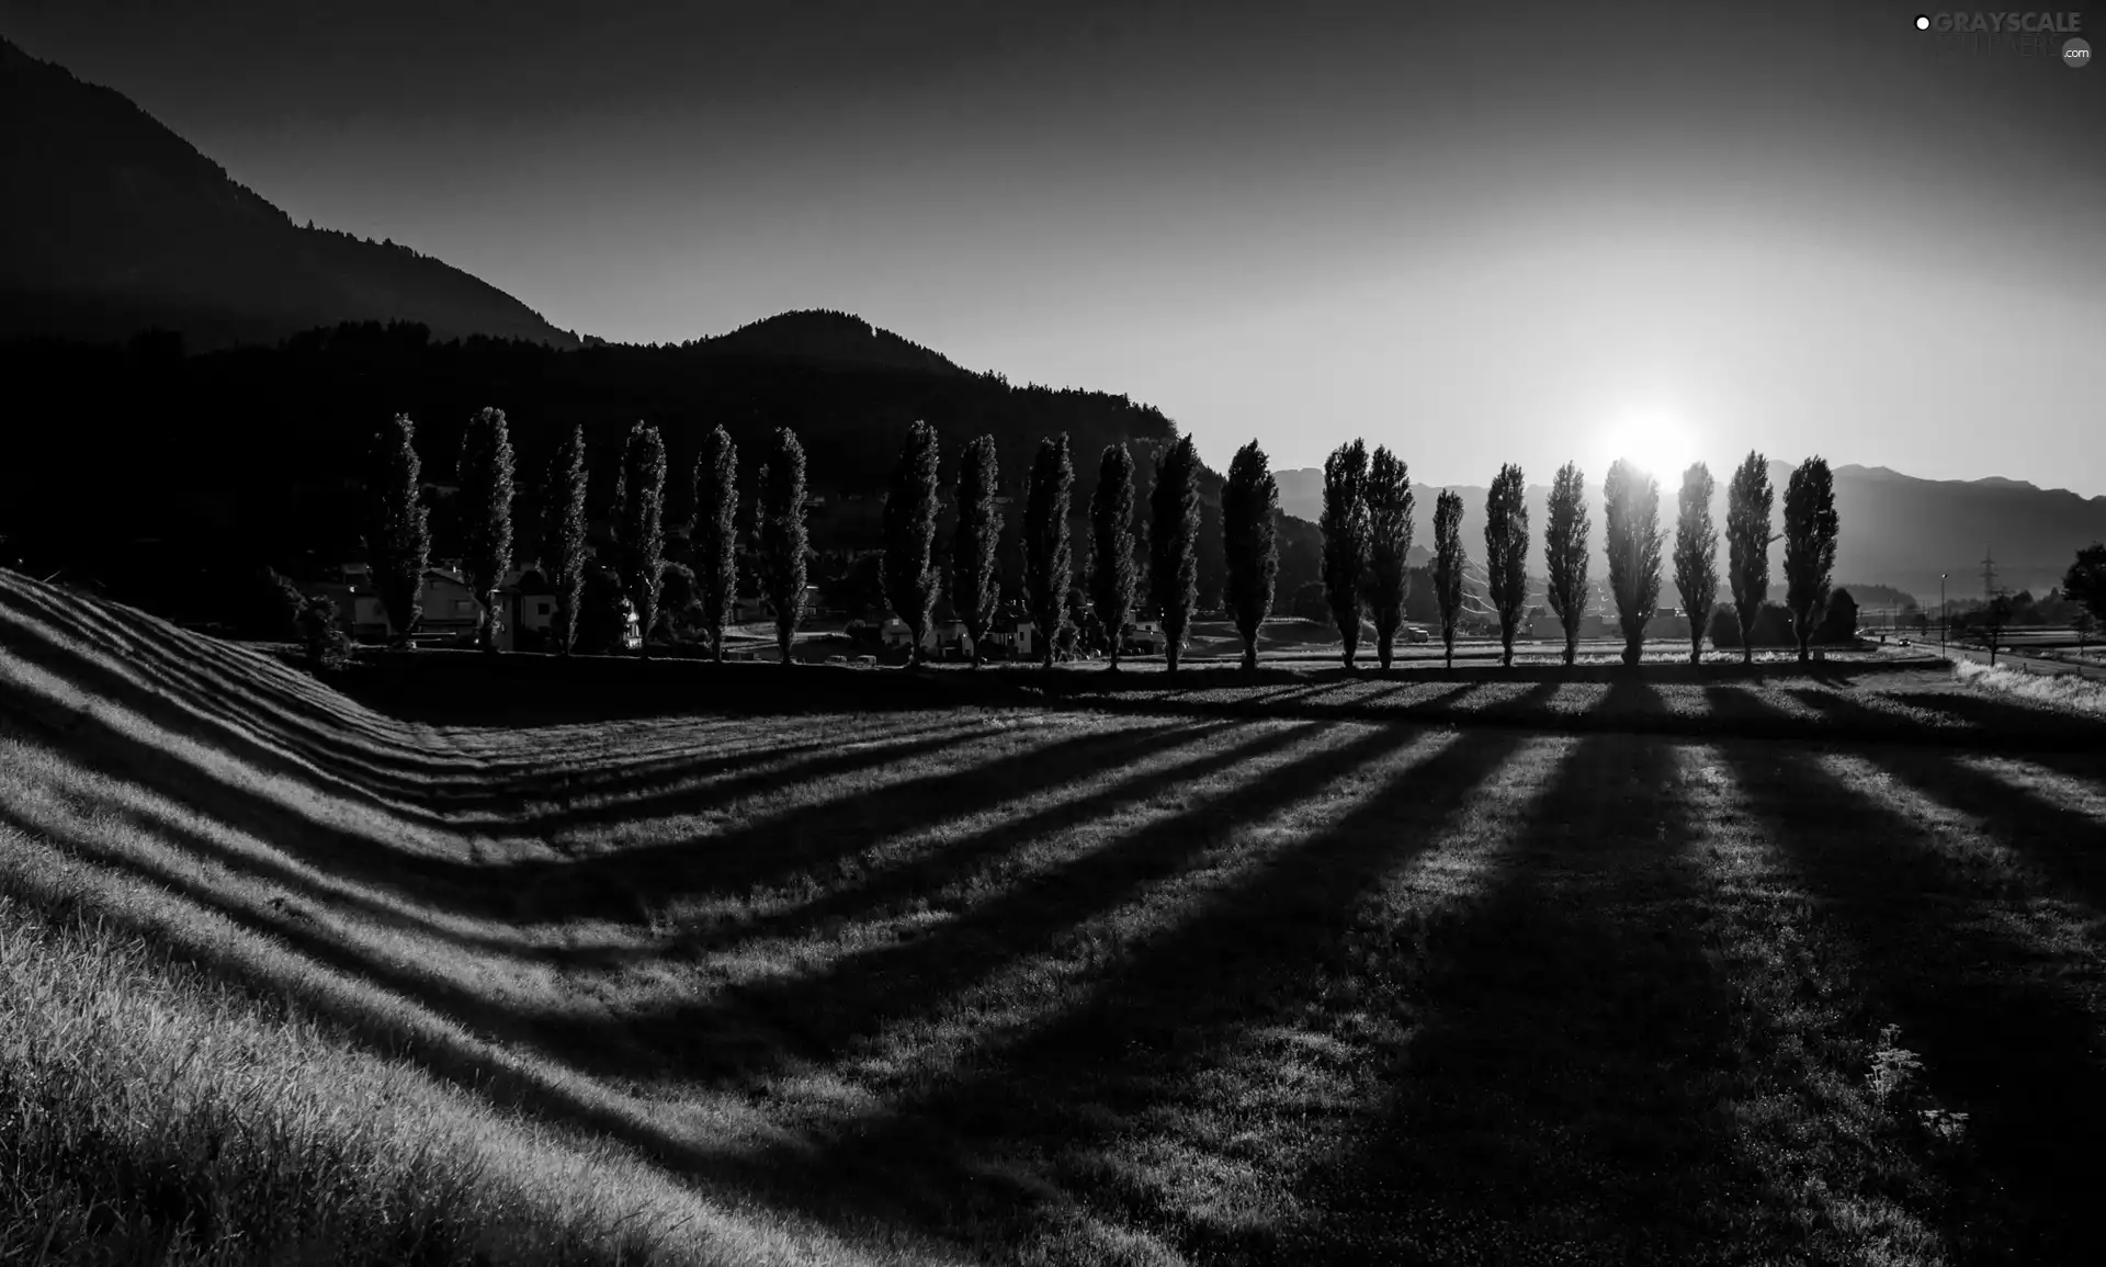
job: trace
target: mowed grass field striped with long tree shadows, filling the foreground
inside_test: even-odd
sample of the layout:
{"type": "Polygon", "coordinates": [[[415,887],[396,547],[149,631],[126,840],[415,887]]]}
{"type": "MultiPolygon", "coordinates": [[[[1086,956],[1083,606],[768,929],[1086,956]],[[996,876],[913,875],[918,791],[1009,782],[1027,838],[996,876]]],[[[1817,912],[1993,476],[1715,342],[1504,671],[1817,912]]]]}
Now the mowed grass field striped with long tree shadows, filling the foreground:
{"type": "Polygon", "coordinates": [[[501,661],[0,572],[0,1263],[2098,1259],[2085,707],[501,661]]]}

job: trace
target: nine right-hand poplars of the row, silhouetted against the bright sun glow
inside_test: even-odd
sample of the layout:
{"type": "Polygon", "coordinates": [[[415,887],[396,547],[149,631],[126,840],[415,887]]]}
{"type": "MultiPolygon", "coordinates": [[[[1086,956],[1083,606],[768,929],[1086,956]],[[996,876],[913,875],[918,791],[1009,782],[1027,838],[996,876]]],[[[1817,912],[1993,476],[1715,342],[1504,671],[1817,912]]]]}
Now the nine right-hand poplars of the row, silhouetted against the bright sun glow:
{"type": "MultiPolygon", "coordinates": [[[[1689,617],[1689,663],[1704,655],[1704,629],[1718,604],[1718,528],[1712,524],[1710,467],[1693,463],[1683,471],[1678,514],[1672,532],[1674,587],[1689,617]]],[[[1403,623],[1409,591],[1405,556],[1411,551],[1411,480],[1405,463],[1388,448],[1375,448],[1373,459],[1360,440],[1342,444],[1325,459],[1323,541],[1325,596],[1337,629],[1346,640],[1346,665],[1352,667],[1360,636],[1363,610],[1377,638],[1382,667],[1390,665],[1390,646],[1403,623]]],[[[1607,522],[1605,556],[1609,560],[1609,591],[1615,596],[1624,631],[1624,663],[1638,663],[1645,625],[1657,610],[1662,556],[1668,554],[1668,532],[1660,526],[1660,482],[1628,461],[1609,465],[1603,482],[1607,522]]],[[[1727,585],[1740,621],[1740,644],[1746,661],[1754,659],[1752,629],[1769,594],[1769,547],[1775,488],[1769,480],[1769,459],[1750,453],[1727,484],[1727,585]]],[[[1580,623],[1588,596],[1588,537],[1592,522],[1586,507],[1586,478],[1575,463],[1558,467],[1550,484],[1544,524],[1546,598],[1565,625],[1565,663],[1580,650],[1580,623]]],[[[1792,469],[1784,488],[1784,577],[1786,608],[1792,612],[1792,634],[1799,659],[1807,659],[1815,621],[1828,606],[1830,572],[1836,558],[1834,478],[1828,463],[1809,457],[1792,469]]],[[[1441,612],[1441,640],[1447,663],[1455,663],[1455,625],[1464,615],[1464,568],[1468,556],[1462,543],[1462,495],[1443,490],[1434,503],[1432,549],[1434,602],[1441,612]]],[[[1518,465],[1502,465],[1485,497],[1485,602],[1499,617],[1502,663],[1514,663],[1514,634],[1529,598],[1529,505],[1527,484],[1518,465]]]]}

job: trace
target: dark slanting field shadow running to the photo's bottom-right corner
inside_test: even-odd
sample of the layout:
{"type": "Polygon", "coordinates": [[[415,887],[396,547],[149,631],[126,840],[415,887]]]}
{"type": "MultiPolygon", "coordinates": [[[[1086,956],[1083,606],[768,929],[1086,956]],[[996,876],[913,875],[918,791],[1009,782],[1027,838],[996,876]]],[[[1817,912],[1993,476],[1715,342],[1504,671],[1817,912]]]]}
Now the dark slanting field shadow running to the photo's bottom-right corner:
{"type": "Polygon", "coordinates": [[[1900,1023],[1902,1044],[1923,1052],[1927,1086],[1973,1115],[1975,1162],[1954,1174],[1948,1235],[1971,1261],[2089,1259],[2091,1206],[2106,1183],[2095,1019],[2051,964],[1982,920],[1982,892],[1942,857],[1935,831],[1883,810],[1796,747],[1721,751],[1769,840],[1832,899],[1864,953],[1874,1019],[1900,1023]]]}

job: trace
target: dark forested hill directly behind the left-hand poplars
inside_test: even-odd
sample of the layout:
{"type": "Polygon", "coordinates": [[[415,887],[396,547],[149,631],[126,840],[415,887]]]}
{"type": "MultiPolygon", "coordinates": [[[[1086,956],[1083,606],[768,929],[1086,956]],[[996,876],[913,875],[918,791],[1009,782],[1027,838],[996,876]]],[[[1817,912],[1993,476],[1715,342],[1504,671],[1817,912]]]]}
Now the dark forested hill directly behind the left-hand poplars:
{"type": "MultiPolygon", "coordinates": [[[[800,324],[811,326],[790,322],[800,324]]],[[[1175,434],[1160,410],[1125,396],[1017,387],[935,354],[927,356],[939,364],[925,368],[887,364],[916,345],[882,330],[868,337],[880,349],[872,364],[826,360],[809,343],[792,356],[758,343],[754,328],[729,343],[579,349],[438,343],[421,326],[379,324],[200,356],[166,339],[128,347],[0,341],[0,373],[15,398],[44,402],[23,421],[36,459],[0,465],[0,535],[15,539],[0,554],[162,577],[196,558],[261,558],[286,570],[310,556],[358,558],[366,444],[396,413],[417,421],[425,478],[451,482],[468,417],[503,408],[522,516],[535,511],[545,457],[573,423],[585,427],[592,505],[604,511],[621,438],[638,419],[651,421],[670,450],[670,522],[689,514],[687,474],[710,427],[722,423],[735,438],[750,495],[769,438],[788,425],[804,444],[813,492],[830,497],[815,514],[821,547],[874,532],[868,495],[885,488],[916,419],[937,427],[946,482],[965,440],[992,434],[1011,495],[1021,495],[1040,438],[1066,431],[1076,511],[1106,444],[1135,442],[1148,469],[1152,450],[1175,434]],[[847,495],[863,495],[868,524],[842,516],[847,495]]],[[[1021,518],[1021,501],[1011,518],[1021,518]]],[[[434,520],[434,528],[444,524],[434,520]]]]}

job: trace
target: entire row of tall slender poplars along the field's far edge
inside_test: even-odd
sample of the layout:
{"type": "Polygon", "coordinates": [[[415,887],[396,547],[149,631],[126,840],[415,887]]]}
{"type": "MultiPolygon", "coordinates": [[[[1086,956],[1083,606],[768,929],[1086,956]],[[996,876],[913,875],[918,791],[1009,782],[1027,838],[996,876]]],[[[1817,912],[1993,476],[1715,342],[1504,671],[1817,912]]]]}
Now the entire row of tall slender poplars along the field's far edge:
{"type": "MultiPolygon", "coordinates": [[[[937,594],[948,587],[977,665],[981,640],[994,627],[1000,600],[996,547],[1002,518],[994,438],[971,440],[956,467],[950,577],[939,575],[935,558],[937,467],[935,427],[914,423],[908,427],[885,499],[885,598],[906,623],[912,657],[920,661],[937,594]]],[[[731,436],[716,427],[703,438],[689,471],[695,505],[691,530],[693,602],[699,606],[701,627],[710,636],[716,659],[724,655],[724,627],[737,598],[737,448],[731,436]]],[[[480,606],[480,642],[493,646],[497,587],[514,560],[514,453],[503,410],[484,408],[470,419],[461,436],[457,471],[463,522],[461,572],[480,606]]],[[[1198,453],[1192,438],[1184,436],[1156,463],[1154,486],[1148,495],[1150,591],[1158,606],[1171,671],[1177,669],[1198,602],[1198,453]]],[[[668,575],[665,478],[663,438],[657,427],[636,423],[621,450],[613,537],[615,570],[644,634],[644,657],[651,655],[649,634],[657,623],[668,575]]],[[[390,621],[404,634],[417,625],[430,556],[430,526],[419,501],[419,484],[415,423],[406,415],[396,415],[377,444],[375,520],[366,541],[375,589],[390,621]]],[[[558,446],[543,486],[543,514],[535,526],[539,535],[535,545],[543,579],[556,598],[556,646],[569,655],[577,636],[585,572],[592,566],[585,530],[583,427],[573,427],[558,446]]],[[[1032,625],[1040,631],[1045,665],[1053,663],[1055,634],[1068,619],[1066,600],[1074,583],[1074,549],[1068,526],[1072,490],[1074,465],[1068,436],[1049,436],[1038,444],[1026,482],[1019,532],[1024,600],[1032,625]]],[[[1499,617],[1502,661],[1508,665],[1529,587],[1525,490],[1521,467],[1504,465],[1491,484],[1485,507],[1485,600],[1499,617]]],[[[1718,591],[1718,530],[1712,526],[1710,514],[1712,490],[1710,469],[1704,463],[1691,465],[1683,476],[1681,514],[1674,528],[1674,583],[1683,598],[1683,610],[1689,615],[1693,661],[1702,655],[1704,627],[1716,606],[1718,591]]],[[[1624,627],[1624,659],[1636,663],[1645,623],[1655,610],[1662,585],[1666,532],[1660,528],[1660,484],[1634,465],[1617,461],[1609,467],[1603,492],[1609,589],[1615,594],[1624,627]]],[[[779,427],[756,480],[752,545],[758,558],[762,596],[775,612],[783,665],[794,663],[790,646],[804,617],[809,549],[804,497],[804,448],[796,431],[779,427]]],[[[1120,631],[1135,608],[1135,501],[1133,457],[1125,444],[1110,444],[1099,457],[1097,488],[1089,503],[1091,549],[1085,581],[1095,615],[1110,631],[1114,669],[1118,667],[1120,631]]],[[[1388,669],[1392,663],[1411,587],[1407,564],[1411,514],[1409,467],[1390,448],[1377,446],[1369,455],[1367,444],[1354,440],[1342,444],[1325,461],[1323,575],[1325,594],[1344,640],[1346,667],[1352,667],[1363,619],[1373,625],[1382,667],[1388,669]]],[[[1777,539],[1771,532],[1771,516],[1769,463],[1763,455],[1750,453],[1727,488],[1725,530],[1727,579],[1744,634],[1744,655],[1750,659],[1754,652],[1746,634],[1769,591],[1769,545],[1777,539]]],[[[1236,450],[1221,488],[1224,598],[1243,638],[1245,667],[1257,665],[1257,634],[1272,610],[1278,579],[1276,518],[1278,484],[1266,453],[1253,440],[1236,450]]],[[[1580,467],[1565,463],[1550,488],[1544,532],[1548,600],[1565,625],[1565,663],[1573,663],[1580,619],[1586,612],[1590,591],[1590,528],[1580,467]]],[[[1786,543],[1786,604],[1794,617],[1799,655],[1805,659],[1815,617],[1828,600],[1836,549],[1834,484],[1828,463],[1820,457],[1807,459],[1792,471],[1784,497],[1782,537],[1786,543]]],[[[1462,545],[1462,497],[1453,490],[1438,495],[1432,554],[1430,572],[1441,612],[1441,638],[1447,661],[1453,665],[1455,627],[1466,604],[1464,568],[1468,564],[1462,545]]]]}

